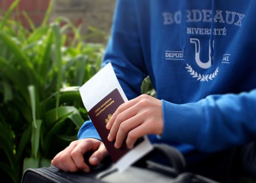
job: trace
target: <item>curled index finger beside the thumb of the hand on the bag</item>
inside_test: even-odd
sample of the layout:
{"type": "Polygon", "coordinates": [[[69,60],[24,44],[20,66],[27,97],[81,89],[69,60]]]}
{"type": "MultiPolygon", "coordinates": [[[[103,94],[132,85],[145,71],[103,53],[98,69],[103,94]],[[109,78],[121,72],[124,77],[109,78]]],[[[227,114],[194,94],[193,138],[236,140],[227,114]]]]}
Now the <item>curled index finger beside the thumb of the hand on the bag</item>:
{"type": "Polygon", "coordinates": [[[99,147],[99,143],[96,143],[93,140],[87,140],[84,143],[79,143],[76,148],[71,152],[71,157],[76,164],[76,167],[79,170],[82,170],[86,173],[90,171],[90,167],[84,162],[84,153],[88,151],[96,151],[99,147]]]}

